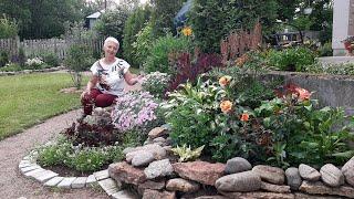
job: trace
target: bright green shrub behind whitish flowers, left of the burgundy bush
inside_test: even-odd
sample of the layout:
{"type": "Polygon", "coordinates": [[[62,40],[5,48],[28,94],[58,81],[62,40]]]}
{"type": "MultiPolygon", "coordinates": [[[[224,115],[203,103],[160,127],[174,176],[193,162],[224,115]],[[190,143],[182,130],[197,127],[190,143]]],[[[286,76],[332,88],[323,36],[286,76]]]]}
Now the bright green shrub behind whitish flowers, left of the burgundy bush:
{"type": "Polygon", "coordinates": [[[168,55],[173,52],[186,52],[190,50],[189,40],[185,36],[174,38],[171,34],[158,38],[152,49],[150,54],[144,65],[145,72],[159,71],[162,73],[175,73],[169,67],[168,55]]]}

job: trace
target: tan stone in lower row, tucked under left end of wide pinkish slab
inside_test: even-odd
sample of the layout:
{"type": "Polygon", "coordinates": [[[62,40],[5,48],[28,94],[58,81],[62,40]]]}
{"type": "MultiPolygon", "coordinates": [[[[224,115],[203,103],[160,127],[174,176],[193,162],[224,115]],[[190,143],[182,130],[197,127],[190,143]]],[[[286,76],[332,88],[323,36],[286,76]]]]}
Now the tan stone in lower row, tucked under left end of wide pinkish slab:
{"type": "Polygon", "coordinates": [[[199,190],[199,184],[183,178],[175,178],[167,181],[166,189],[170,191],[195,192],[199,190]]]}

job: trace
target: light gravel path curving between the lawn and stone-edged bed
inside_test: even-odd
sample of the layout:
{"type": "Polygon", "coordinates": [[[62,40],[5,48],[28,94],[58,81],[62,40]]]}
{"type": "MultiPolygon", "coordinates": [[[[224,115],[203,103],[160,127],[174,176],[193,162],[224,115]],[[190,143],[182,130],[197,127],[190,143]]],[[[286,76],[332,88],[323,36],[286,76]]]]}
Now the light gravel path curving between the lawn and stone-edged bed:
{"type": "Polygon", "coordinates": [[[19,169],[19,161],[35,146],[54,138],[59,132],[69,127],[81,115],[81,111],[72,111],[55,116],[25,132],[0,142],[0,198],[72,198],[88,199],[108,198],[101,188],[59,190],[44,188],[35,180],[24,178],[19,169]]]}

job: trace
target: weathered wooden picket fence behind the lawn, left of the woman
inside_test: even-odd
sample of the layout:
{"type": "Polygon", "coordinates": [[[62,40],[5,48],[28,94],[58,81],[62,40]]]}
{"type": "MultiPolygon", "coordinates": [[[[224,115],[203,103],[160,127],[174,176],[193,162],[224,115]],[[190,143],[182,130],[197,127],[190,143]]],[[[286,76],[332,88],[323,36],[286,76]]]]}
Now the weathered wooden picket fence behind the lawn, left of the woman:
{"type": "MultiPolygon", "coordinates": [[[[42,39],[42,40],[23,40],[20,42],[20,39],[1,39],[0,40],[0,52],[8,52],[9,56],[19,55],[19,50],[22,48],[27,56],[41,56],[46,53],[56,54],[61,60],[65,59],[66,53],[71,44],[76,43],[77,41],[73,40],[63,40],[63,39],[42,39]]],[[[100,40],[87,40],[83,39],[79,41],[84,43],[92,49],[93,52],[101,52],[103,48],[103,39],[100,40]]]]}

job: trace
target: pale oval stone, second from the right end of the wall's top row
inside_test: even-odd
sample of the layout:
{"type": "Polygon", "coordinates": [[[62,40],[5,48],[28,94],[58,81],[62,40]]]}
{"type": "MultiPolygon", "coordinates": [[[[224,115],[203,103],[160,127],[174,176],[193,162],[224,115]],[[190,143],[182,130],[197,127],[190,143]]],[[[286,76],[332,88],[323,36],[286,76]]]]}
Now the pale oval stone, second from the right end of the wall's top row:
{"type": "MultiPolygon", "coordinates": [[[[354,170],[352,170],[352,172],[354,170]]],[[[322,181],[327,186],[340,187],[344,184],[344,176],[342,171],[332,164],[324,165],[320,169],[320,172],[322,181]]]]}

